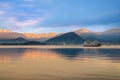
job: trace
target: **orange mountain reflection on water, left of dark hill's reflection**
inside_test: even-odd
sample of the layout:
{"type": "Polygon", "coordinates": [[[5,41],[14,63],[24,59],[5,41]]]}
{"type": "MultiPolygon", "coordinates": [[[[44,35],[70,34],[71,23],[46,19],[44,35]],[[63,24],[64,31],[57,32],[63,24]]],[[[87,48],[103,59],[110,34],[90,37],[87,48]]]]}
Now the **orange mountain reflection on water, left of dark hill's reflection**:
{"type": "Polygon", "coordinates": [[[16,61],[18,59],[54,59],[57,54],[44,49],[0,49],[0,63],[16,61]]]}

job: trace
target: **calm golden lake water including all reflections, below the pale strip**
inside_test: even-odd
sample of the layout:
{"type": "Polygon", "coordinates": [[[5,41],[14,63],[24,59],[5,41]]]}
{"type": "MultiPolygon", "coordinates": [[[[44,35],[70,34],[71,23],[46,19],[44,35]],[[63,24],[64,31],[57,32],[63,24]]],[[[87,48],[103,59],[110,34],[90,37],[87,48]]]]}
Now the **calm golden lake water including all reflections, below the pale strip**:
{"type": "Polygon", "coordinates": [[[120,49],[0,49],[0,80],[120,80],[120,49]]]}

